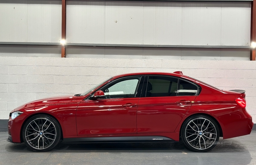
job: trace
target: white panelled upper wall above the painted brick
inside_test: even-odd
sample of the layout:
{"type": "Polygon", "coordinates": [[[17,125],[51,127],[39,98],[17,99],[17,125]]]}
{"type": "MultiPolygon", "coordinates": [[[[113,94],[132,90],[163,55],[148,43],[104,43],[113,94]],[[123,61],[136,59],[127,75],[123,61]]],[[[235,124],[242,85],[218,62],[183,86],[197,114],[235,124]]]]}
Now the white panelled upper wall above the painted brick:
{"type": "MultiPolygon", "coordinates": [[[[66,40],[73,46],[67,46],[66,57],[250,60],[250,14],[251,3],[246,1],[67,0],[66,40]],[[79,44],[101,47],[76,46],[79,44]],[[210,48],[202,49],[204,46],[210,48]],[[223,49],[225,46],[230,48],[223,49]]],[[[0,44],[29,43],[1,45],[0,56],[61,57],[60,47],[49,46],[61,40],[61,0],[2,0],[0,18],[0,31],[4,31],[0,33],[0,44]],[[30,45],[33,43],[48,46],[37,50],[30,45]]]]}

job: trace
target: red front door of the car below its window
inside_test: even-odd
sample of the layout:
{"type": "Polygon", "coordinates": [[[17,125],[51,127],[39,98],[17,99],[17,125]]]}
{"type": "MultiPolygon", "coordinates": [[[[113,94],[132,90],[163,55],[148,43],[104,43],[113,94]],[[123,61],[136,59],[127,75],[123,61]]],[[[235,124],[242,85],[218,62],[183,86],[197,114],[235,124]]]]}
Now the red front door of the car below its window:
{"type": "Polygon", "coordinates": [[[78,136],[136,134],[138,102],[139,98],[81,101],[76,114],[78,136]]]}

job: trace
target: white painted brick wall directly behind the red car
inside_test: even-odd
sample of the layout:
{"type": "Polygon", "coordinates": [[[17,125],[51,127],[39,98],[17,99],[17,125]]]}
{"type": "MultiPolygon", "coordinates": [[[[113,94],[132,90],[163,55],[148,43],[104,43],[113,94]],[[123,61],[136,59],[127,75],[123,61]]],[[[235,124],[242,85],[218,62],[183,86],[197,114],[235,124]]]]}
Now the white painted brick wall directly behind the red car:
{"type": "Polygon", "coordinates": [[[174,72],[224,90],[246,91],[256,122],[256,62],[225,60],[0,57],[0,119],[26,102],[82,93],[116,74],[174,72]]]}

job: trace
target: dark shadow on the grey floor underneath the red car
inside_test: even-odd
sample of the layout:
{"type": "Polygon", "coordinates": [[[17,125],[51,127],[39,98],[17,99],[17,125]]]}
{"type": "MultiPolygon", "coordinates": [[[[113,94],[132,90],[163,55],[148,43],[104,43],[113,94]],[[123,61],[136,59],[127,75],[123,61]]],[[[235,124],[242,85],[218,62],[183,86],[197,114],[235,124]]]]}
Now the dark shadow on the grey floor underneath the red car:
{"type": "MultiPolygon", "coordinates": [[[[8,152],[31,152],[24,143],[6,145],[8,152]]],[[[49,152],[192,152],[188,150],[183,142],[126,142],[126,143],[61,143],[49,152]]],[[[219,143],[213,148],[211,153],[222,152],[248,152],[243,145],[233,140],[220,139],[219,143]]]]}

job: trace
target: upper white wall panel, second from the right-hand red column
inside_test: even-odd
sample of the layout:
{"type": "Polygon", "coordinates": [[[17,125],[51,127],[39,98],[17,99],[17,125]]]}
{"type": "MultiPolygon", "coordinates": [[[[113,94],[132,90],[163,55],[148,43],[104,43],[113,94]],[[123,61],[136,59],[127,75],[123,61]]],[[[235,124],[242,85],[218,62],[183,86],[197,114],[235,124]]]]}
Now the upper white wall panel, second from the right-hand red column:
{"type": "Polygon", "coordinates": [[[221,45],[220,3],[183,4],[182,20],[182,45],[221,45]]]}

